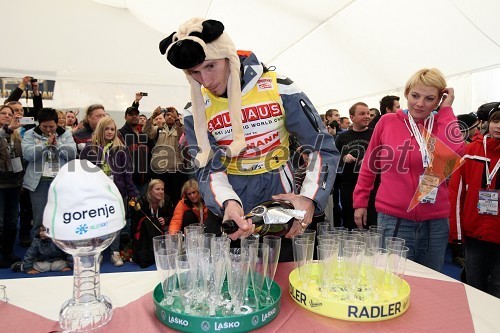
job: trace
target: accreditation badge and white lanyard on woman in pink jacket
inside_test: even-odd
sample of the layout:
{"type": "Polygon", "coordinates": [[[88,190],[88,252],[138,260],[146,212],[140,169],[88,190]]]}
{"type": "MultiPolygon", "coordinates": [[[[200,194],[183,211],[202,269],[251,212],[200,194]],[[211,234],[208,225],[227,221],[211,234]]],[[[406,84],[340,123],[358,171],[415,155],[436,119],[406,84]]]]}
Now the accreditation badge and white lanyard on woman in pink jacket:
{"type": "Polygon", "coordinates": [[[434,126],[434,115],[431,114],[427,118],[427,128],[424,135],[420,132],[415,120],[408,112],[408,120],[410,123],[410,133],[415,137],[420,148],[420,153],[422,155],[422,166],[424,168],[424,173],[419,177],[418,180],[418,201],[421,203],[435,203],[438,187],[441,183],[440,177],[432,172],[432,147],[433,144],[430,143],[430,135],[432,133],[432,128],[434,126]]]}

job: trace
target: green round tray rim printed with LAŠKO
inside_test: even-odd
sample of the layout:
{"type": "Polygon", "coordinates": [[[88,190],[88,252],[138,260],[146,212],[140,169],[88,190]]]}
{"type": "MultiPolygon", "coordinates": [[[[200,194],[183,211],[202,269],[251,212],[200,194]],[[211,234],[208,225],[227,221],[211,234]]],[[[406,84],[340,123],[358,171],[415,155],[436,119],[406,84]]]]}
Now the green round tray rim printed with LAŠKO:
{"type": "Polygon", "coordinates": [[[274,302],[257,311],[233,316],[194,316],[174,312],[163,306],[163,289],[159,283],[153,291],[156,317],[166,326],[180,332],[248,332],[269,324],[280,311],[281,288],[273,281],[271,296],[274,302]]]}

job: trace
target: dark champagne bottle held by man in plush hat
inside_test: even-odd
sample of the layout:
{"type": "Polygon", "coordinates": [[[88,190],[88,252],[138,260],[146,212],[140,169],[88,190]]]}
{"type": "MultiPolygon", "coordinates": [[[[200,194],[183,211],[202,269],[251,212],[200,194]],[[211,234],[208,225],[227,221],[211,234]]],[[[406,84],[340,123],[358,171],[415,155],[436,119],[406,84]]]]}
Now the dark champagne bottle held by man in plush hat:
{"type": "MultiPolygon", "coordinates": [[[[288,201],[270,200],[262,202],[243,218],[252,220],[254,234],[284,236],[292,227],[293,220],[303,219],[304,215],[305,211],[294,209],[288,201]]],[[[221,230],[229,235],[238,230],[238,225],[234,220],[226,220],[222,222],[221,230]]]]}

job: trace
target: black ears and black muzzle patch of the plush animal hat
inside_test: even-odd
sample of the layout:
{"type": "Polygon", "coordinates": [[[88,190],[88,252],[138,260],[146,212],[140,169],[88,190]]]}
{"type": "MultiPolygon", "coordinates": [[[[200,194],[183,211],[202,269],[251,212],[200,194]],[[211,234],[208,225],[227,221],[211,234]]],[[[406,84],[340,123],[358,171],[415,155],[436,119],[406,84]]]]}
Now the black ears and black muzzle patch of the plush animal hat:
{"type": "MultiPolygon", "coordinates": [[[[205,42],[211,43],[222,35],[224,32],[224,25],[222,22],[216,20],[206,20],[201,23],[202,31],[193,31],[189,36],[195,36],[205,42]]],[[[167,60],[177,68],[188,69],[201,64],[205,61],[205,52],[203,47],[191,39],[177,39],[174,40],[172,33],[167,38],[160,42],[160,53],[165,54],[167,49],[172,45],[167,54],[167,60]]]]}

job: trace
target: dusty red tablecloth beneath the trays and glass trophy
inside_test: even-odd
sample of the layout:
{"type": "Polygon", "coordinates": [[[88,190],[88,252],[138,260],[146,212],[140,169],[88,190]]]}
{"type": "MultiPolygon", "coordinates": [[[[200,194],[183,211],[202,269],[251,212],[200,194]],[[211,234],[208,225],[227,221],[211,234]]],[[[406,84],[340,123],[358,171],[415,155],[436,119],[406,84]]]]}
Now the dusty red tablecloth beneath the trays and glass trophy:
{"type": "MultiPolygon", "coordinates": [[[[280,264],[276,282],[282,287],[278,317],[255,332],[474,332],[465,288],[461,283],[407,276],[410,308],[398,318],[358,323],[320,316],[298,306],[288,294],[293,264],[280,264]]],[[[43,306],[43,304],[40,304],[43,306]]],[[[53,332],[59,324],[19,307],[0,304],[2,332],[53,332]]],[[[98,332],[173,332],[156,319],[151,293],[113,311],[113,319],[98,332]]]]}

